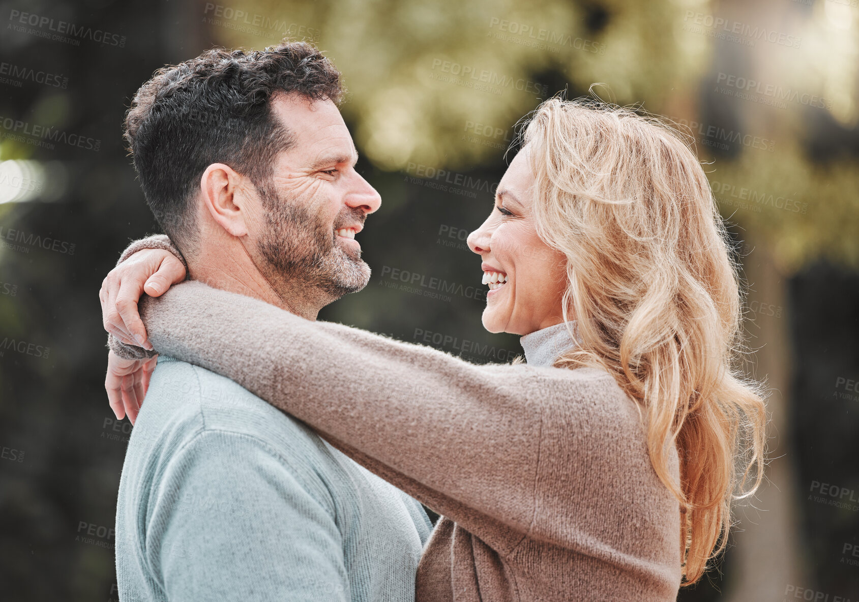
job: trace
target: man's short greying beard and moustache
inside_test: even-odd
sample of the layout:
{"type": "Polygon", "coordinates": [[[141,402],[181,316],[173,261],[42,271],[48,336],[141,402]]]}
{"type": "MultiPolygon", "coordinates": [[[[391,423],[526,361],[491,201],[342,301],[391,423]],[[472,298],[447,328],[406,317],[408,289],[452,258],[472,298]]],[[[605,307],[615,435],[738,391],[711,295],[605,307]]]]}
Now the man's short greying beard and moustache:
{"type": "Polygon", "coordinates": [[[344,248],[334,232],[362,223],[362,210],[344,208],[332,228],[310,213],[305,199],[280,197],[271,185],[259,186],[259,196],[265,210],[265,232],[257,245],[265,265],[259,267],[278,293],[295,293],[297,284],[303,295],[316,289],[333,301],[367,286],[370,268],[361,251],[344,248]]]}

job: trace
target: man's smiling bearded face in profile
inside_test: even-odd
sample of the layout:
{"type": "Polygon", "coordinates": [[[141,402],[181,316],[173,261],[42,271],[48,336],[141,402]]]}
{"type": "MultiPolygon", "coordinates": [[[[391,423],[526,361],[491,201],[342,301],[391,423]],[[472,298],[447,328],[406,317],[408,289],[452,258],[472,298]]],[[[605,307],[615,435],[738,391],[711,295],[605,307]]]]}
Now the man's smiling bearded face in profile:
{"type": "Polygon", "coordinates": [[[259,190],[254,261],[283,295],[295,295],[295,284],[326,301],[361,290],[370,269],[354,237],[381,198],[355,171],[349,130],[330,100],[282,95],[272,109],[295,143],[277,155],[259,190]]]}

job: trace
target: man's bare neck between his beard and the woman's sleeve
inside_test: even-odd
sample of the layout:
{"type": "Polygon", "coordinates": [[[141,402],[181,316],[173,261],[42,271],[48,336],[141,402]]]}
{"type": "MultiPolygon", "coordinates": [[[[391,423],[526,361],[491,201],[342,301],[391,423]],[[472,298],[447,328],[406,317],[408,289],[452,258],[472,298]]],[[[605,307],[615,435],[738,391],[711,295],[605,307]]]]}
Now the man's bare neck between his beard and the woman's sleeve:
{"type": "Polygon", "coordinates": [[[204,257],[195,259],[188,262],[189,279],[213,289],[253,297],[312,321],[315,321],[320,309],[326,306],[326,302],[308,295],[306,287],[297,284],[290,286],[290,283],[284,283],[276,290],[253,263],[247,265],[246,262],[225,258],[218,258],[217,261],[204,257]]]}

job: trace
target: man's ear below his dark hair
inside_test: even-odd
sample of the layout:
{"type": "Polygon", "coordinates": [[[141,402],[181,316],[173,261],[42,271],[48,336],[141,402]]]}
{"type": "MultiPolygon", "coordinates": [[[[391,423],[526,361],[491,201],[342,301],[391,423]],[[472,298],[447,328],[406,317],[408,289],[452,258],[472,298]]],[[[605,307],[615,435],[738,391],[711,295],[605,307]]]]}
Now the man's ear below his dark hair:
{"type": "Polygon", "coordinates": [[[228,165],[212,163],[200,179],[203,204],[212,219],[233,236],[248,232],[247,179],[228,165]]]}

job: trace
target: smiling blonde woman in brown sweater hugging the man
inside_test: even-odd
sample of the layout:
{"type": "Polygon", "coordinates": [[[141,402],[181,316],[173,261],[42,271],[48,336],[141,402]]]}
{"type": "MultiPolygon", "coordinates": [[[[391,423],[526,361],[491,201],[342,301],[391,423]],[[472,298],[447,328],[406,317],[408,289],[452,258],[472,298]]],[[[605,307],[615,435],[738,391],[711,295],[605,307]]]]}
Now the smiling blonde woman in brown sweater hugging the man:
{"type": "Polygon", "coordinates": [[[417,600],[673,600],[724,547],[734,490],[762,476],[727,238],[695,155],[654,120],[552,99],[524,142],[468,244],[484,326],[523,335],[527,364],[476,366],[200,283],[142,300],[149,340],[442,514],[417,600]]]}

